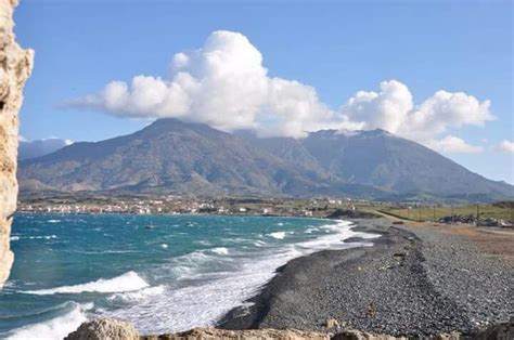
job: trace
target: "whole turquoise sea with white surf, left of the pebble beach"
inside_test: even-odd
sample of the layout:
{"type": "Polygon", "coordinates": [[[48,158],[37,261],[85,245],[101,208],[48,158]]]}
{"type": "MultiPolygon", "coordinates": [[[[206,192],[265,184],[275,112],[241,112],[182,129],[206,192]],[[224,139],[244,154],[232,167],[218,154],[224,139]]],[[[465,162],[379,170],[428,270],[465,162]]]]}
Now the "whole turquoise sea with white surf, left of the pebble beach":
{"type": "Polygon", "coordinates": [[[297,218],[16,215],[0,337],[59,339],[97,316],[145,334],[213,325],[288,260],[352,236],[372,237],[297,218]]]}

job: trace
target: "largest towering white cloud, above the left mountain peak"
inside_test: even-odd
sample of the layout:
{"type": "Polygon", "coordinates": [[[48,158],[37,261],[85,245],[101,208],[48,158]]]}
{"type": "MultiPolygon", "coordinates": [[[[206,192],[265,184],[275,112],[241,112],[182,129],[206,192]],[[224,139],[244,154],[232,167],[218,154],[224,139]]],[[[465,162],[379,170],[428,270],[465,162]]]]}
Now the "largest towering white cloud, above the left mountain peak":
{"type": "Polygon", "coordinates": [[[130,84],[113,81],[98,94],[66,104],[117,116],[182,118],[228,131],[255,129],[261,135],[303,136],[343,123],[314,88],[268,77],[262,55],[248,39],[222,30],[202,49],[177,53],[168,80],[136,76],[130,84]]]}

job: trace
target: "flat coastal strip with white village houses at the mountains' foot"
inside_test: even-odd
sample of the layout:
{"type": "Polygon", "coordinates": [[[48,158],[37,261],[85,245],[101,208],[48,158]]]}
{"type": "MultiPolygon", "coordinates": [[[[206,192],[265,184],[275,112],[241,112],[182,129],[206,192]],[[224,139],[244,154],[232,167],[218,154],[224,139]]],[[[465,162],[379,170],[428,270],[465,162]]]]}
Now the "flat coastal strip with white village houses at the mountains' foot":
{"type": "Polygon", "coordinates": [[[512,201],[448,205],[333,198],[197,198],[193,196],[54,197],[24,199],[18,213],[242,214],[325,218],[378,212],[416,222],[513,227],[512,201]]]}

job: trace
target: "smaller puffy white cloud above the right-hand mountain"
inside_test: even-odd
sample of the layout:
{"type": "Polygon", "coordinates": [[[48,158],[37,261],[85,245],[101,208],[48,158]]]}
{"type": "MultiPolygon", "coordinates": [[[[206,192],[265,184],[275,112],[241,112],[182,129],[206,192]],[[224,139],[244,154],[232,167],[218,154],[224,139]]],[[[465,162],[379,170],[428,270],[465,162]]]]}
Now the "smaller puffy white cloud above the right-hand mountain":
{"type": "Polygon", "coordinates": [[[340,112],[365,129],[381,128],[426,144],[449,128],[493,120],[489,106],[489,101],[441,90],[415,107],[407,86],[390,80],[381,83],[378,93],[357,92],[340,112]]]}

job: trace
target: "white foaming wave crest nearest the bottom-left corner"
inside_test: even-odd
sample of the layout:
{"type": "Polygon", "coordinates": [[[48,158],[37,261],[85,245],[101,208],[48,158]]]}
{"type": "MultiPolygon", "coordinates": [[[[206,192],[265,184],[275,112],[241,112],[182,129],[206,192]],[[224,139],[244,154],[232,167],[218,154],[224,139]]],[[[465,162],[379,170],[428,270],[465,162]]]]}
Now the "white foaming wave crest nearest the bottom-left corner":
{"type": "Polygon", "coordinates": [[[43,323],[27,325],[18,329],[14,329],[8,337],[9,340],[57,340],[63,339],[74,331],[88,318],[83,314],[79,304],[74,303],[74,308],[68,313],[49,319],[43,323]]]}

